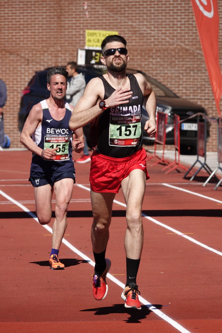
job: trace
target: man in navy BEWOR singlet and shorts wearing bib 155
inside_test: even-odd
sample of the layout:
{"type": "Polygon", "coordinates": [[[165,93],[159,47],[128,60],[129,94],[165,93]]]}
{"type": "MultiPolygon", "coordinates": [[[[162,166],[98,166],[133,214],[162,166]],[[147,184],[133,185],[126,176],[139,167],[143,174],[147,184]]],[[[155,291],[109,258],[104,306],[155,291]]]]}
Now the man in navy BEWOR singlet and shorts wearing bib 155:
{"type": "Polygon", "coordinates": [[[47,74],[50,97],[33,106],[24,124],[20,142],[32,152],[29,181],[34,187],[36,213],[40,224],[48,224],[52,217],[52,194],[56,206],[53,223],[51,269],[64,269],[58,259],[59,248],[67,227],[67,210],[75,182],[72,149],[82,152],[82,128],[73,136],[69,120],[73,107],[65,104],[68,72],[54,67],[47,74]]]}

